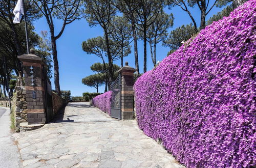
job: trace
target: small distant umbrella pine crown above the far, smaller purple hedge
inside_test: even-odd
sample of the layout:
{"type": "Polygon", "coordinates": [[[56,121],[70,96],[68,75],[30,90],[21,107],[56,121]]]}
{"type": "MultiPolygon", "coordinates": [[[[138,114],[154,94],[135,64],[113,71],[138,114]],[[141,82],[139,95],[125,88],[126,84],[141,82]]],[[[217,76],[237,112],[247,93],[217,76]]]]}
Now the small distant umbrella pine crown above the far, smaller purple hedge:
{"type": "Polygon", "coordinates": [[[100,76],[99,74],[93,74],[82,78],[83,85],[96,88],[97,93],[99,92],[99,87],[103,85],[104,81],[105,79],[103,76],[100,76]]]}

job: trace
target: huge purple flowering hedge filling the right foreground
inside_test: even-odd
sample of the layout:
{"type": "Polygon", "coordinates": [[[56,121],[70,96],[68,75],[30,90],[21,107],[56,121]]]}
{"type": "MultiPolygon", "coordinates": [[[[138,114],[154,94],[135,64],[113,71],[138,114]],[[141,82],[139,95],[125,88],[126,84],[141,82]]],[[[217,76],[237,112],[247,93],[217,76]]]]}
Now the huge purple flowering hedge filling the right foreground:
{"type": "Polygon", "coordinates": [[[255,153],[255,1],[135,83],[140,129],[187,167],[249,167],[255,153]]]}

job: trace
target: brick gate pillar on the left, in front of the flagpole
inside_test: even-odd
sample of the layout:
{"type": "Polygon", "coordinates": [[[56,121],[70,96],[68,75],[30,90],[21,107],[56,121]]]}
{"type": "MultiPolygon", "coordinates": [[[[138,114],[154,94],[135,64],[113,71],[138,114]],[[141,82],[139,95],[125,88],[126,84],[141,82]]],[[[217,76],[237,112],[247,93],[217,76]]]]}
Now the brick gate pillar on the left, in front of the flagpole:
{"type": "Polygon", "coordinates": [[[24,69],[28,124],[45,124],[44,62],[34,54],[33,49],[30,52],[18,56],[24,69]]]}

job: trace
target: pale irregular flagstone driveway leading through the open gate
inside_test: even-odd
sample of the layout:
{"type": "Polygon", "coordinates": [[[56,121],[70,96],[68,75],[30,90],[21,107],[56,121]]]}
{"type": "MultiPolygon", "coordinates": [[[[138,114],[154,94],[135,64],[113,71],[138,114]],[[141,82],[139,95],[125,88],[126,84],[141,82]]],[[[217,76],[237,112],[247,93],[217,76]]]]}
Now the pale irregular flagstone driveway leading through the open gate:
{"type": "Polygon", "coordinates": [[[183,167],[136,121],[69,103],[55,123],[15,134],[24,167],[183,167]]]}

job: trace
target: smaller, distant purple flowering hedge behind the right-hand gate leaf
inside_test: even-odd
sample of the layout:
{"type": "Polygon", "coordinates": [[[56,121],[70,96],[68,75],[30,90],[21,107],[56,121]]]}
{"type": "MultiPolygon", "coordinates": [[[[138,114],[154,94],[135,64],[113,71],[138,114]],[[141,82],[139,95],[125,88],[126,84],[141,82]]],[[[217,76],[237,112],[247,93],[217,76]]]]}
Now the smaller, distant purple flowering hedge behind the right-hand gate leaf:
{"type": "Polygon", "coordinates": [[[93,106],[99,108],[100,110],[110,115],[111,96],[112,92],[109,91],[94,97],[92,101],[93,106]]]}

